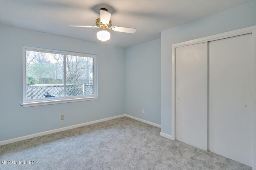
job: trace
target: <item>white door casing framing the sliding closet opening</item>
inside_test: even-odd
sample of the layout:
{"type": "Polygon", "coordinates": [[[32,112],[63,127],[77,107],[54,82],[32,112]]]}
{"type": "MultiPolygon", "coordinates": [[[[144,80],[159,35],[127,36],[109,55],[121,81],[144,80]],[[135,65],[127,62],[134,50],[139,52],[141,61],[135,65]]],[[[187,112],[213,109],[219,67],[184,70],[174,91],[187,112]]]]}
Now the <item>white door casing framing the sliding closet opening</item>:
{"type": "Polygon", "coordinates": [[[228,37],[234,37],[238,35],[243,35],[246,33],[252,33],[253,36],[253,107],[252,107],[252,113],[254,114],[253,119],[253,125],[254,125],[254,131],[253,131],[253,143],[254,143],[254,155],[253,155],[253,170],[256,170],[256,25],[251,27],[246,27],[242,29],[237,29],[234,31],[228,31],[225,33],[220,33],[216,35],[211,35],[208,37],[203,37],[199,39],[194,39],[190,41],[185,41],[182,43],[176,43],[172,45],[172,140],[176,139],[176,65],[175,65],[175,49],[177,47],[183,47],[186,45],[193,45],[197,43],[204,43],[208,41],[214,41],[218,39],[228,38],[228,37]]]}

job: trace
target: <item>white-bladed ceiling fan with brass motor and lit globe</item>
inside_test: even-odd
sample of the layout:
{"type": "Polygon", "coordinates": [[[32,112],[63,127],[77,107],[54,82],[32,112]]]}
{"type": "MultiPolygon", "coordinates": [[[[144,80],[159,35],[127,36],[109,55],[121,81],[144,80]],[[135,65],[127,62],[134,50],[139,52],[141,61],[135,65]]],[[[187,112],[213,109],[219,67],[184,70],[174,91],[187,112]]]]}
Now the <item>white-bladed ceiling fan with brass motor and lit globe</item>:
{"type": "Polygon", "coordinates": [[[111,14],[106,8],[100,8],[100,18],[96,20],[96,26],[86,26],[86,25],[68,25],[70,27],[88,27],[88,28],[101,28],[101,31],[97,33],[97,38],[100,41],[107,41],[110,39],[110,33],[107,31],[111,29],[112,31],[118,31],[123,33],[135,33],[135,28],[127,27],[116,27],[112,26],[112,21],[110,20],[111,14]]]}

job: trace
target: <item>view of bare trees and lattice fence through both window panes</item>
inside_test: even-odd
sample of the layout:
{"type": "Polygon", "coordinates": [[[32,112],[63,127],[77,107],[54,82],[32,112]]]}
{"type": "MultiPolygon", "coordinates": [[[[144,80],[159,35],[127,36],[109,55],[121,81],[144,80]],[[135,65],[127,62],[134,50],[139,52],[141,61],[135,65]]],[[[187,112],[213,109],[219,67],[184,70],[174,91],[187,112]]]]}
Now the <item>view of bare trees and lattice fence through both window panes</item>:
{"type": "Polygon", "coordinates": [[[92,57],[26,51],[26,99],[94,94],[93,65],[92,57]]]}

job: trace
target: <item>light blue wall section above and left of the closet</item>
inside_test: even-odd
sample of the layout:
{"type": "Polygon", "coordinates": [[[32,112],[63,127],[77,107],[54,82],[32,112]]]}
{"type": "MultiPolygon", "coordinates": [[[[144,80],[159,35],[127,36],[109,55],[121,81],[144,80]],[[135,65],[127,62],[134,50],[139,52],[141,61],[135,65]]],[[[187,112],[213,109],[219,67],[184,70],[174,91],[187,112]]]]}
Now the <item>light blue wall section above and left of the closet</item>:
{"type": "Polygon", "coordinates": [[[161,131],[163,133],[172,135],[172,44],[253,25],[256,25],[256,1],[161,32],[161,131]]]}

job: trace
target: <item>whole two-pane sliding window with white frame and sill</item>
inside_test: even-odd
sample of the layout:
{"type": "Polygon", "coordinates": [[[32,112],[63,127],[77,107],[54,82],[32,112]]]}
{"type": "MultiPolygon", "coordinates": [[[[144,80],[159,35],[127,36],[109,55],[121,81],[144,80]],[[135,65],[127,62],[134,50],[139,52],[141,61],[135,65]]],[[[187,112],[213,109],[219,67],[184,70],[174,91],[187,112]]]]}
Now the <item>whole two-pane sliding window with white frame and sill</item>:
{"type": "Polygon", "coordinates": [[[96,55],[23,47],[23,106],[96,100],[96,55]]]}

